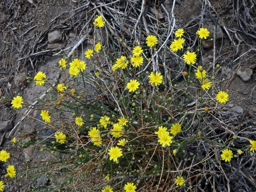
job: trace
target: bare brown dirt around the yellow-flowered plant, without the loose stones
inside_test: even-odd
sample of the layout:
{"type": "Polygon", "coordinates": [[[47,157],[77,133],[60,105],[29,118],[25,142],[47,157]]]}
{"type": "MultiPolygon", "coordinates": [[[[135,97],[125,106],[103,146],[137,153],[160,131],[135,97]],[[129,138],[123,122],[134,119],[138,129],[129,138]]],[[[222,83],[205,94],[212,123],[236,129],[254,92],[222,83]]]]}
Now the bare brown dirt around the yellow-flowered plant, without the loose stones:
{"type": "MultiPolygon", "coordinates": [[[[44,71],[49,80],[53,80],[57,74],[57,67],[55,65],[60,57],[52,56],[52,54],[59,52],[60,48],[66,48],[72,42],[78,40],[76,37],[81,26],[77,23],[76,16],[69,12],[79,7],[79,1],[33,0],[32,4],[29,3],[30,1],[4,0],[0,2],[0,98],[4,96],[13,98],[18,93],[22,93],[28,103],[33,103],[45,90],[39,89],[35,84],[27,83],[25,77],[33,77],[36,72],[44,71]],[[48,33],[54,30],[60,32],[61,39],[58,40],[59,45],[49,46],[48,33]],[[52,50],[54,48],[57,50],[52,50]],[[45,52],[38,53],[42,51],[45,52]]],[[[233,10],[230,9],[231,0],[210,0],[209,2],[212,8],[204,10],[204,20],[202,20],[201,24],[203,27],[208,26],[211,34],[214,33],[214,27],[212,26],[216,26],[217,29],[215,70],[217,70],[216,64],[220,64],[220,69],[218,69],[215,79],[218,80],[217,86],[220,86],[221,90],[228,90],[228,104],[230,105],[226,107],[226,110],[230,110],[233,106],[240,106],[244,112],[256,114],[255,50],[241,56],[250,48],[255,47],[256,41],[255,39],[252,40],[251,37],[246,37],[241,32],[242,29],[237,24],[233,10]],[[213,14],[214,17],[212,17],[213,14]],[[235,38],[236,34],[229,31],[235,42],[235,44],[232,44],[224,30],[224,26],[232,31],[239,31],[240,37],[244,38],[247,44],[243,41],[238,42],[235,38]],[[242,80],[236,74],[238,67],[252,69],[252,76],[248,81],[242,80]]],[[[172,1],[166,0],[164,5],[166,5],[168,12],[171,12],[172,1]]],[[[197,24],[198,20],[195,18],[202,14],[202,7],[204,8],[200,1],[177,1],[174,13],[178,26],[186,29],[188,24],[189,26],[197,24]],[[195,20],[193,21],[193,19],[195,20]]],[[[82,13],[80,12],[80,14],[82,13]]],[[[255,14],[253,17],[255,21],[255,14]]],[[[195,27],[186,29],[187,32],[196,32],[196,30],[198,28],[195,27]]],[[[212,42],[204,42],[203,54],[198,60],[198,65],[210,68],[209,72],[212,70],[214,55],[214,44],[212,42]]],[[[25,109],[20,110],[20,112],[25,112],[25,109]]],[[[16,111],[10,108],[10,104],[5,102],[1,102],[0,114],[0,121],[11,119],[14,125],[22,117],[21,114],[16,113],[16,111]]],[[[37,118],[37,116],[38,114],[32,111],[32,117],[37,118]]],[[[37,126],[36,121],[25,118],[10,138],[8,138],[10,131],[0,132],[0,141],[1,135],[5,135],[2,147],[14,149],[9,140],[13,136],[17,136],[19,132],[23,132],[26,135],[38,131],[37,126]]],[[[25,140],[25,137],[22,139],[25,140]]],[[[11,152],[15,154],[15,151],[11,152]]],[[[28,152],[17,155],[18,161],[15,159],[13,163],[17,164],[19,161],[26,161],[28,156],[30,156],[31,160],[33,158],[38,160],[38,153],[40,153],[40,148],[28,150],[28,152]]],[[[46,156],[49,156],[49,154],[42,154],[41,158],[46,156]]],[[[38,180],[39,185],[46,182],[46,180],[42,176],[38,180]]],[[[17,190],[15,186],[12,186],[9,188],[9,191],[12,189],[13,191],[17,190]]]]}

